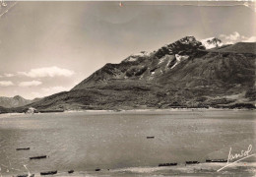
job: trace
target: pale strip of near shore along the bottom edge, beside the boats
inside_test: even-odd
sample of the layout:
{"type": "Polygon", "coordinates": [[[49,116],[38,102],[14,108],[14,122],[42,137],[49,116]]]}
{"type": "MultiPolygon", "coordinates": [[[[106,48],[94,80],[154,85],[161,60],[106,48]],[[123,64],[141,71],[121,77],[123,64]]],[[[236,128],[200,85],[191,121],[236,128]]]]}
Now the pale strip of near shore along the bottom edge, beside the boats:
{"type": "MultiPolygon", "coordinates": [[[[74,173],[69,174],[68,170],[57,170],[57,174],[54,176],[120,176],[124,175],[128,177],[137,177],[137,176],[229,176],[234,174],[241,174],[241,175],[255,175],[256,174],[256,162],[237,162],[233,163],[229,167],[226,167],[224,170],[219,171],[218,169],[222,168],[225,163],[207,163],[202,162],[199,164],[191,164],[185,165],[183,163],[178,164],[177,166],[131,166],[131,167],[121,167],[121,168],[113,168],[113,169],[100,169],[96,171],[95,169],[88,169],[88,170],[74,170],[74,173]]],[[[21,172],[22,173],[22,172],[21,172]]],[[[22,174],[27,174],[28,172],[24,171],[22,174]]],[[[1,174],[1,173],[0,173],[1,174]]],[[[40,173],[38,171],[32,171],[31,174],[35,176],[39,176],[40,173]]],[[[2,176],[10,176],[7,174],[1,174],[2,176]]],[[[18,175],[16,173],[12,175],[18,175]]]]}

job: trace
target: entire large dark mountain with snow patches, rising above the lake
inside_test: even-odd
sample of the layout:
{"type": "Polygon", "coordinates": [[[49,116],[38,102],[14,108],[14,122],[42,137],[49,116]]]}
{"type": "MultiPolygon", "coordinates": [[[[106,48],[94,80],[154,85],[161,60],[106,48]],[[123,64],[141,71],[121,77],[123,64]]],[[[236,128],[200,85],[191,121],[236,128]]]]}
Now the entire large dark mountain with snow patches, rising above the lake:
{"type": "MultiPolygon", "coordinates": [[[[208,42],[208,44],[211,42],[208,42]]],[[[215,44],[213,44],[215,43],[215,44]]],[[[185,36],[105,64],[70,91],[13,109],[255,108],[255,43],[215,48],[185,36]]]]}

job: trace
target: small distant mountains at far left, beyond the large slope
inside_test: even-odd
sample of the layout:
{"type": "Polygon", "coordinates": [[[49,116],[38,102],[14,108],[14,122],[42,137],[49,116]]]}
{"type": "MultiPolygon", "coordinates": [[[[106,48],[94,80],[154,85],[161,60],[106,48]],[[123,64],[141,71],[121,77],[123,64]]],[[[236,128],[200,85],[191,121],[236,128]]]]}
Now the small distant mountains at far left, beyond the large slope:
{"type": "Polygon", "coordinates": [[[0,96],[0,106],[5,107],[5,108],[19,107],[19,106],[24,106],[24,105],[30,104],[37,100],[38,100],[38,98],[35,98],[33,100],[25,99],[20,95],[16,95],[14,97],[0,96]]]}

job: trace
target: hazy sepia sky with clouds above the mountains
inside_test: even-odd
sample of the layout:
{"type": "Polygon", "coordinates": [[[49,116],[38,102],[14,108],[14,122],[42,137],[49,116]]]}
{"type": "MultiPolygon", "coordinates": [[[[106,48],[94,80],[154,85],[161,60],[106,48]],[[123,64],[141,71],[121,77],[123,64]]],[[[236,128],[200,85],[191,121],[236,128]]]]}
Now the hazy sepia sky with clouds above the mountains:
{"type": "MultiPolygon", "coordinates": [[[[237,3],[237,2],[236,2],[237,3]]],[[[1,3],[0,3],[1,4],[1,3]]],[[[0,5],[0,96],[69,90],[106,63],[186,35],[256,40],[256,11],[232,2],[6,2],[0,5]]]]}

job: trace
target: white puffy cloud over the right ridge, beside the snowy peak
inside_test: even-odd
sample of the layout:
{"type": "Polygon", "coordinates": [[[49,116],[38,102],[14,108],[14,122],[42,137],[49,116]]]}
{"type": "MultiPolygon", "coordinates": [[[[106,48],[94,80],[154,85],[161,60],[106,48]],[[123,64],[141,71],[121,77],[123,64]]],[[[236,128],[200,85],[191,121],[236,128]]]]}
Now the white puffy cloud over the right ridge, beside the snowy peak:
{"type": "Polygon", "coordinates": [[[256,41],[256,36],[244,36],[238,33],[237,31],[234,31],[230,34],[221,34],[221,38],[224,38],[224,44],[233,44],[239,41],[243,42],[255,42],[256,41]]]}

